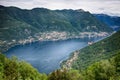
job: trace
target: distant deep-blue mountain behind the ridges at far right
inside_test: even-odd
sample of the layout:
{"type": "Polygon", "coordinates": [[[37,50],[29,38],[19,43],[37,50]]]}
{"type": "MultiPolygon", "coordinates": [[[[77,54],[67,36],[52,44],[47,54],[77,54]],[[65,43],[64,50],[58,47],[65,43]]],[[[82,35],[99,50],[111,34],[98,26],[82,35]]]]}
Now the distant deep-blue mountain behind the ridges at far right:
{"type": "Polygon", "coordinates": [[[100,21],[104,22],[113,30],[118,31],[120,30],[120,17],[118,16],[109,16],[106,14],[94,14],[96,18],[98,18],[100,21]]]}

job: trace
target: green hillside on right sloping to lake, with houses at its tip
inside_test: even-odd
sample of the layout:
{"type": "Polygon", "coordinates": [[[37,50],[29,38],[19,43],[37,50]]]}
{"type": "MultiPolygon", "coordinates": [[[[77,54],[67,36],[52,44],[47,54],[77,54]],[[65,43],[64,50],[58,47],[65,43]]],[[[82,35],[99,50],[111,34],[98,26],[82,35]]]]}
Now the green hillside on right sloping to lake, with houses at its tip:
{"type": "Polygon", "coordinates": [[[83,70],[95,62],[111,58],[119,51],[120,31],[104,40],[75,51],[67,61],[63,62],[63,66],[83,70]]]}

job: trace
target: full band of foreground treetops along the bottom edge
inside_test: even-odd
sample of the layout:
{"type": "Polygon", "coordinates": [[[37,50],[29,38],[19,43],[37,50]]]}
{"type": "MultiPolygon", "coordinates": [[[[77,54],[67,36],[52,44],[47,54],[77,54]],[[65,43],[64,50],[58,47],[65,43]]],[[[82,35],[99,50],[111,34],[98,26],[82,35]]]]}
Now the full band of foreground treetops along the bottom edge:
{"type": "Polygon", "coordinates": [[[0,80],[120,80],[120,52],[91,64],[83,71],[59,69],[41,74],[30,64],[0,54],[0,80]]]}

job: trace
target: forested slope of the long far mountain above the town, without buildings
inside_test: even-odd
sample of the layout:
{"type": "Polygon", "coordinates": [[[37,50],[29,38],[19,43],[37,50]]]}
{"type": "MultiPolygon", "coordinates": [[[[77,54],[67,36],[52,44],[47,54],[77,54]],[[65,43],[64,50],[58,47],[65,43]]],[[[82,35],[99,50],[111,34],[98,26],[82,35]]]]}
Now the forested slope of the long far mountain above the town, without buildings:
{"type": "Polygon", "coordinates": [[[8,39],[9,36],[10,38],[17,37],[15,35],[20,36],[19,33],[21,33],[21,31],[24,36],[46,31],[66,31],[75,33],[83,31],[112,31],[89,12],[83,10],[52,11],[44,8],[22,10],[16,7],[0,7],[0,25],[2,29],[0,30],[0,38],[3,39],[4,37],[8,39]],[[88,26],[90,26],[90,29],[86,29],[88,26]],[[96,26],[96,28],[92,26],[96,26]],[[30,34],[23,33],[24,29],[28,29],[29,31],[32,30],[32,32],[30,34]],[[9,35],[9,33],[14,34],[9,35]],[[3,34],[6,36],[3,36],[3,34]]]}

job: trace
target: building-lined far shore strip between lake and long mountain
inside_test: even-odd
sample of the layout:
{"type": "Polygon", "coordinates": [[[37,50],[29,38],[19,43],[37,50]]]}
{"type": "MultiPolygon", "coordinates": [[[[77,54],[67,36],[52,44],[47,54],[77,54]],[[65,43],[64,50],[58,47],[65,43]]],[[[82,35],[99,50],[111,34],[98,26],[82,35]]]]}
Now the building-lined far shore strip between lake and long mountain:
{"type": "Polygon", "coordinates": [[[107,32],[81,32],[79,34],[72,34],[67,32],[48,32],[43,33],[41,36],[29,36],[28,38],[19,39],[19,40],[11,40],[11,41],[1,41],[0,40],[0,52],[6,52],[11,47],[14,47],[16,45],[24,45],[28,43],[33,43],[37,41],[59,41],[59,40],[67,40],[67,39],[73,39],[73,38],[94,38],[94,37],[104,37],[108,36],[112,33],[107,32]]]}

